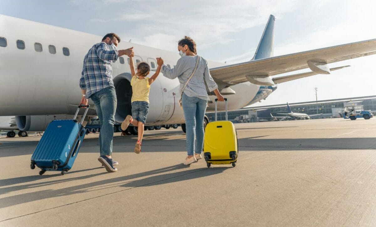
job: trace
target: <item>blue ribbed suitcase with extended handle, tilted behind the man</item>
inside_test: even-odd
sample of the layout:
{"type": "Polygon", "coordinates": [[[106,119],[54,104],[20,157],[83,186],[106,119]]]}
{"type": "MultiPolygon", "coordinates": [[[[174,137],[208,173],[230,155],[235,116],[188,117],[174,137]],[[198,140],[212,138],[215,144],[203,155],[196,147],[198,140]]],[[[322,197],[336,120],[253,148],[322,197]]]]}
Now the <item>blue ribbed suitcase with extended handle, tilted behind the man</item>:
{"type": "Polygon", "coordinates": [[[89,105],[79,106],[73,120],[51,121],[31,157],[30,168],[41,168],[39,175],[46,171],[68,172],[76,160],[86,130],[82,126],[89,105]],[[76,121],[80,108],[86,107],[81,122],[76,121]]]}

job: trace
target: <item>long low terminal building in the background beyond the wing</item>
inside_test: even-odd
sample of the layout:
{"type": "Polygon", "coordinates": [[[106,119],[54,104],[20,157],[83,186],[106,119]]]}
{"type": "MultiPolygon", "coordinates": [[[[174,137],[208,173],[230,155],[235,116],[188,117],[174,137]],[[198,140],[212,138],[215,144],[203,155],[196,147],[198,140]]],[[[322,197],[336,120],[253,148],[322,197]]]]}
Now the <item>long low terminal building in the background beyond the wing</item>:
{"type": "MultiPolygon", "coordinates": [[[[299,112],[312,116],[312,119],[317,118],[339,118],[345,106],[349,105],[363,105],[365,110],[371,110],[371,112],[376,114],[376,96],[365,96],[365,97],[353,97],[346,99],[331,99],[331,100],[320,100],[313,102],[302,102],[302,103],[289,103],[291,111],[299,112]]],[[[245,122],[259,122],[259,121],[273,121],[272,116],[284,116],[279,115],[279,113],[287,113],[287,103],[280,105],[270,105],[270,106],[257,106],[242,108],[237,111],[228,112],[228,120],[234,123],[245,123],[245,122]]],[[[214,121],[214,113],[207,113],[209,121],[214,121]]],[[[225,120],[225,113],[218,113],[218,121],[225,120]]]]}

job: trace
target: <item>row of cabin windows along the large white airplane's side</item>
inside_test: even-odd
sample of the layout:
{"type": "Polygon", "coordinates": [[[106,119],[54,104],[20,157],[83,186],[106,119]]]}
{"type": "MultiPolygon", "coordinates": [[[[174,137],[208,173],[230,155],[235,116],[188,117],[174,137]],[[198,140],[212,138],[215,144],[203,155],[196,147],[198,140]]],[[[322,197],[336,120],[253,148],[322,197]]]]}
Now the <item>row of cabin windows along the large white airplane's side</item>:
{"type": "MultiPolygon", "coordinates": [[[[25,42],[23,40],[17,40],[16,45],[17,45],[18,49],[21,49],[21,50],[25,49],[25,42]]],[[[0,47],[6,47],[6,46],[8,46],[7,40],[4,37],[0,37],[0,47]]],[[[42,52],[43,46],[42,46],[41,43],[34,43],[34,49],[35,49],[36,52],[42,52]]],[[[48,49],[49,49],[50,54],[56,54],[56,47],[55,46],[49,45],[48,49]]],[[[63,47],[63,54],[65,56],[70,55],[69,49],[67,47],[63,47]]],[[[139,56],[135,56],[135,57],[140,58],[141,61],[142,61],[141,57],[139,57],[139,56]]],[[[119,61],[120,61],[120,64],[125,63],[123,57],[120,57],[119,61]]],[[[138,65],[141,61],[139,59],[136,59],[136,65],[138,65]]],[[[153,61],[155,61],[155,60],[153,59],[153,61]]],[[[153,61],[150,61],[149,64],[152,67],[152,69],[155,69],[156,65],[153,61]]],[[[129,58],[128,58],[128,64],[129,64],[129,58]]],[[[170,68],[170,65],[167,65],[167,66],[170,68]]]]}

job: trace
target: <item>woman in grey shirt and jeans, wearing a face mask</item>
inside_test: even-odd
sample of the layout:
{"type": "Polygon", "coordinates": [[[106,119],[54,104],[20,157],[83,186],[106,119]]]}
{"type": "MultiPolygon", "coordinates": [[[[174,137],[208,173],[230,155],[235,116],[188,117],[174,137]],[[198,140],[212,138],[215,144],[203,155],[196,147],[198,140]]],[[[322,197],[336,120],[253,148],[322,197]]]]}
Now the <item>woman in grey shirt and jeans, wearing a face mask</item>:
{"type": "Polygon", "coordinates": [[[209,73],[208,62],[197,55],[196,43],[193,39],[185,36],[184,39],[179,41],[177,50],[181,58],[177,61],[176,66],[170,69],[163,64],[161,72],[169,79],[178,78],[180,82],[180,94],[183,93],[182,106],[186,125],[188,153],[183,164],[190,165],[202,158],[201,152],[204,143],[203,122],[208,103],[205,82],[209,90],[214,91],[219,101],[224,101],[224,98],[209,73]],[[193,76],[191,77],[192,73],[193,76]],[[191,79],[187,83],[190,77],[191,79]]]}

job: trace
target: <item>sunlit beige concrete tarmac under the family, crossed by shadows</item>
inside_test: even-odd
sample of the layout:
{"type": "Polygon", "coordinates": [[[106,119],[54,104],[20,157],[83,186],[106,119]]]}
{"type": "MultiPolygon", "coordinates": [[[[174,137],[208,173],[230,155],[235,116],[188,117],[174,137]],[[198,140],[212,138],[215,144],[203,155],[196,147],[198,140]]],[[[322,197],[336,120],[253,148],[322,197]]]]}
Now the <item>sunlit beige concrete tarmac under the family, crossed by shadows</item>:
{"type": "Polygon", "coordinates": [[[376,118],[235,124],[236,167],[183,166],[181,128],[88,134],[73,168],[30,169],[40,136],[0,139],[0,226],[376,226],[376,118]]]}

